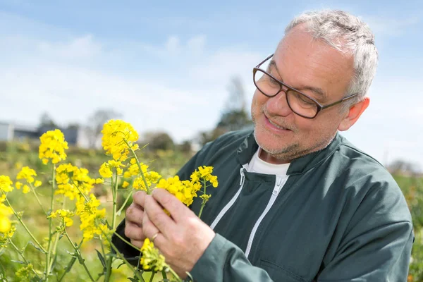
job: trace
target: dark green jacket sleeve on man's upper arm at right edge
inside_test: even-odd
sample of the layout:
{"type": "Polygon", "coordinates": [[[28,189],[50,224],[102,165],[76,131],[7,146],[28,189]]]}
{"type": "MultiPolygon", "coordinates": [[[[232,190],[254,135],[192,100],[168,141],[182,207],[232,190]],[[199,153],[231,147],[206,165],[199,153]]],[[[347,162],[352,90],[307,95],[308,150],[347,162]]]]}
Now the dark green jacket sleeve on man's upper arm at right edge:
{"type": "Polygon", "coordinates": [[[410,212],[398,185],[372,187],[317,281],[407,281],[413,242],[410,212]]]}

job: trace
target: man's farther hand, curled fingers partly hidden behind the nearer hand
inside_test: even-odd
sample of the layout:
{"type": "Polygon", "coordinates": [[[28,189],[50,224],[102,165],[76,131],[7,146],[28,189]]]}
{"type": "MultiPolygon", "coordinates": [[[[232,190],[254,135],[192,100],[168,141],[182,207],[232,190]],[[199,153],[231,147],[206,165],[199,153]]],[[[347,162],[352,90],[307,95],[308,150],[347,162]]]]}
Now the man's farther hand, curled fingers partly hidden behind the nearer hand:
{"type": "Polygon", "coordinates": [[[145,196],[147,196],[145,191],[135,192],[133,203],[126,209],[125,214],[125,236],[130,238],[130,243],[139,248],[142,247],[146,238],[142,232],[145,196]]]}

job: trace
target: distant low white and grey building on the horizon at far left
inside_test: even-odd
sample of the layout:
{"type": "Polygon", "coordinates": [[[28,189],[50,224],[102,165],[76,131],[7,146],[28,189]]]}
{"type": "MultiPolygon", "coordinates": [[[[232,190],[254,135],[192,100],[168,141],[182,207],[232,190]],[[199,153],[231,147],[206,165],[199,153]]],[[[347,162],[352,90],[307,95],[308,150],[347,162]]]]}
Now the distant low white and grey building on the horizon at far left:
{"type": "MultiPolygon", "coordinates": [[[[0,121],[0,141],[39,140],[39,137],[43,133],[54,129],[56,129],[56,127],[49,125],[36,127],[0,121]]],[[[65,140],[68,142],[68,145],[82,148],[90,146],[90,140],[83,128],[73,126],[59,129],[63,132],[63,135],[65,135],[65,140]]]]}

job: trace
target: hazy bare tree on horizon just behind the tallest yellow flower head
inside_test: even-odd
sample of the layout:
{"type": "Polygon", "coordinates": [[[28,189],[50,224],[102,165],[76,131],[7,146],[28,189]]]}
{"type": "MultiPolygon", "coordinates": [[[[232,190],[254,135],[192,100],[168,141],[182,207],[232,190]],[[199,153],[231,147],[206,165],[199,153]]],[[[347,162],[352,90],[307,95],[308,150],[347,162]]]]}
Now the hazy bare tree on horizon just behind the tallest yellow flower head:
{"type": "Polygon", "coordinates": [[[112,118],[120,118],[122,115],[112,109],[98,109],[90,116],[86,127],[87,138],[91,148],[96,147],[99,137],[102,135],[103,125],[112,118]]]}

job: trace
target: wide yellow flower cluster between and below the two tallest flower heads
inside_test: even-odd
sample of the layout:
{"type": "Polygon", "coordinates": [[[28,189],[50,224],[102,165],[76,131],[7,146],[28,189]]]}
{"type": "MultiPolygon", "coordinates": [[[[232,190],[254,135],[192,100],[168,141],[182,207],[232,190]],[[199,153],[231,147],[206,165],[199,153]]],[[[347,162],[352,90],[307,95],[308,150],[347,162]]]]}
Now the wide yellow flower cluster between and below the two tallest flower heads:
{"type": "Polygon", "coordinates": [[[103,183],[102,178],[90,178],[86,168],[72,164],[61,164],[56,168],[57,189],[54,195],[65,195],[70,200],[80,199],[80,193],[88,195],[94,184],[103,183]]]}

